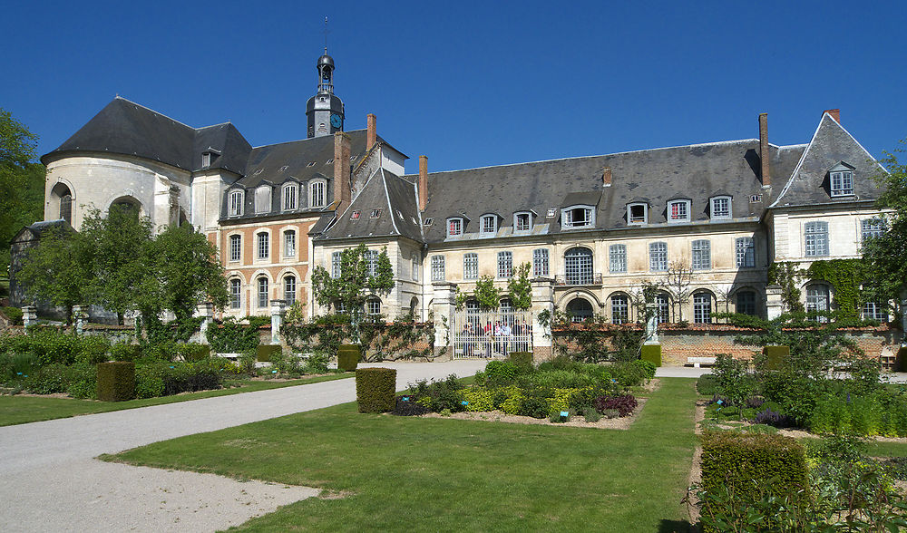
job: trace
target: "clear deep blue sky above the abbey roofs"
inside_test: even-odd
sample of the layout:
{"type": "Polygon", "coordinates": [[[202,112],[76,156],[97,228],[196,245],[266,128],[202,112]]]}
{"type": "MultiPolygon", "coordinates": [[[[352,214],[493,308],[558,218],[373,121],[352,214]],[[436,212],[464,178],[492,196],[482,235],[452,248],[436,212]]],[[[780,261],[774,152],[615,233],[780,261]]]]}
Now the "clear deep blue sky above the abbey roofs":
{"type": "Polygon", "coordinates": [[[306,136],[324,46],[346,129],[430,170],[758,137],[824,109],[907,137],[907,3],[7,2],[0,107],[53,150],[119,93],[253,145],[306,136]]]}

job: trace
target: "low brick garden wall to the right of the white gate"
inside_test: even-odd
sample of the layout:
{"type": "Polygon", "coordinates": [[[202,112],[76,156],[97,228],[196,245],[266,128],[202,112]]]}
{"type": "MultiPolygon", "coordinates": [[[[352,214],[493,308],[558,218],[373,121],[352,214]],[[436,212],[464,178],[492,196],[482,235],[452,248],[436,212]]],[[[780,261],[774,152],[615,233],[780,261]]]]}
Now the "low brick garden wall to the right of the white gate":
{"type": "MultiPolygon", "coordinates": [[[[640,329],[635,325],[621,327],[640,329]]],[[[614,327],[607,333],[613,334],[616,331],[618,328],[614,327]]],[[[661,326],[658,328],[661,361],[667,366],[681,366],[687,363],[687,357],[708,357],[716,354],[731,354],[736,359],[749,359],[753,354],[761,352],[762,347],[734,342],[737,335],[749,333],[752,333],[752,330],[725,324],[691,325],[686,328],[661,326]]],[[[891,325],[866,326],[843,330],[843,333],[853,339],[867,356],[874,359],[895,354],[902,337],[900,330],[894,329],[891,325]]],[[[554,344],[563,345],[564,342],[563,332],[555,331],[554,344]]]]}

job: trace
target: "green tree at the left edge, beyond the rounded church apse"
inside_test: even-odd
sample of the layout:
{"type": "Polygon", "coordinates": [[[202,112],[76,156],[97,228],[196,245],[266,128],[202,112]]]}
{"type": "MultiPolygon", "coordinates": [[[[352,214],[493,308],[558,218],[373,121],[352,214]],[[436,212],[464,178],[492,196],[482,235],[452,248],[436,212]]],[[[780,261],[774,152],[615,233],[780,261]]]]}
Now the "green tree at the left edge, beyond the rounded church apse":
{"type": "Polygon", "coordinates": [[[10,239],[43,218],[44,165],[32,162],[37,139],[0,108],[0,260],[6,265],[10,239]]]}

